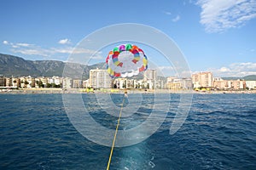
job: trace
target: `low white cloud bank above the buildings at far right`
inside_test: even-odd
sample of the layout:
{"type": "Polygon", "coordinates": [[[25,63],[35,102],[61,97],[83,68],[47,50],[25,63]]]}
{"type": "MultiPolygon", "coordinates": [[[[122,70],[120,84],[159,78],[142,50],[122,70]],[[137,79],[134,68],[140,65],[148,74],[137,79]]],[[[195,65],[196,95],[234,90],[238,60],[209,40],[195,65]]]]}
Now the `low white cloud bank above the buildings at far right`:
{"type": "Polygon", "coordinates": [[[214,77],[245,77],[256,75],[256,63],[233,63],[219,69],[209,69],[214,77]]]}

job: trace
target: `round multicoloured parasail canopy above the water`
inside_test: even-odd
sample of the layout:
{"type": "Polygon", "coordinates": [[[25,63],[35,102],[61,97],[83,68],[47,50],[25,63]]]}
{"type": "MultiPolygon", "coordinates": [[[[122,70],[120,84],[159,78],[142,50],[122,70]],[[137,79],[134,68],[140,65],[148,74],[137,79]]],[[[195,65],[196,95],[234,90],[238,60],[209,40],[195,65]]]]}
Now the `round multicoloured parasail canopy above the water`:
{"type": "Polygon", "coordinates": [[[143,50],[131,44],[113,48],[106,63],[110,77],[132,77],[148,68],[148,59],[143,50]]]}

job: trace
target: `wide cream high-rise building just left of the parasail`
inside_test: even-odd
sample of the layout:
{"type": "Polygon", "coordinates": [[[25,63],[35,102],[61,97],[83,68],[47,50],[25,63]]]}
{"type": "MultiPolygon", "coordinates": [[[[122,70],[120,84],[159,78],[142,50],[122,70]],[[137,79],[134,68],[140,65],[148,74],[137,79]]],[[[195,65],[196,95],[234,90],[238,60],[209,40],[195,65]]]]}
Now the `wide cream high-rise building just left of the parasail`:
{"type": "Polygon", "coordinates": [[[111,88],[111,77],[107,70],[94,69],[90,70],[90,87],[91,88],[111,88]]]}

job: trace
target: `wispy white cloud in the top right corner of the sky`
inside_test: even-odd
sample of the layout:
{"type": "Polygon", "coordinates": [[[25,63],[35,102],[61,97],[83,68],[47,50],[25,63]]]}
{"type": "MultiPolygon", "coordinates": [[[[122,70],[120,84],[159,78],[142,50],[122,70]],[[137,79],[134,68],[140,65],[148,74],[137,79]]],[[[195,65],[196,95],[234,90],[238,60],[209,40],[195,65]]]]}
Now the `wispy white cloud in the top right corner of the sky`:
{"type": "Polygon", "coordinates": [[[198,0],[201,6],[201,24],[207,32],[222,32],[244,26],[256,18],[255,0],[198,0]]]}

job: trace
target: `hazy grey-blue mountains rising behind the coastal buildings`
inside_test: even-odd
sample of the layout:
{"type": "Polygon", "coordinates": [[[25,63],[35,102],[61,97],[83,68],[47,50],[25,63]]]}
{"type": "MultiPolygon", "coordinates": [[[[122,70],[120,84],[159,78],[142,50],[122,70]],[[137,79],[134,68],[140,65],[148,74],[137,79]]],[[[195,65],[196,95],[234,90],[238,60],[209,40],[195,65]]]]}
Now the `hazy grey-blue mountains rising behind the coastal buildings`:
{"type": "MultiPolygon", "coordinates": [[[[77,63],[65,63],[59,60],[26,60],[9,54],[0,54],[0,75],[5,77],[62,77],[63,69],[68,69],[70,76],[81,75],[83,78],[89,78],[90,69],[102,68],[104,63],[96,65],[81,65],[77,63]]],[[[105,68],[105,67],[103,67],[105,68]]],[[[246,81],[256,80],[256,75],[248,75],[247,77],[223,77],[226,80],[244,79],[246,81]]]]}

